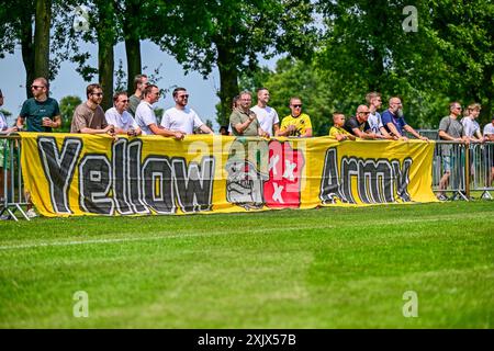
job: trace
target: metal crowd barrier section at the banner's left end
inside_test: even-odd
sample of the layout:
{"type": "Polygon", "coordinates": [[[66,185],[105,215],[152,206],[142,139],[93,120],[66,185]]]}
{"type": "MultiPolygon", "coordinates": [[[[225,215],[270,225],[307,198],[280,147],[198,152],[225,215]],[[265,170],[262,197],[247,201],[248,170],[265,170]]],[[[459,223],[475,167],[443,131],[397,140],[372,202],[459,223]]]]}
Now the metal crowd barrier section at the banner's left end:
{"type": "Polygon", "coordinates": [[[0,135],[0,152],[2,165],[0,172],[3,179],[3,189],[0,191],[0,217],[2,219],[19,220],[19,213],[27,220],[22,206],[27,205],[21,170],[21,137],[19,135],[0,135]]]}

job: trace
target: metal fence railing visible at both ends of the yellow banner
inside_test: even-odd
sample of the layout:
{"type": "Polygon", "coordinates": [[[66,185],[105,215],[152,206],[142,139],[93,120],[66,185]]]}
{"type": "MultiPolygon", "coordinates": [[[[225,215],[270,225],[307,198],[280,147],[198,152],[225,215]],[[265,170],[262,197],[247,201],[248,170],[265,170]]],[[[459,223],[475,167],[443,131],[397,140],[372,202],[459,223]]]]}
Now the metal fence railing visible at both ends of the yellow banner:
{"type": "MultiPolygon", "coordinates": [[[[16,134],[0,135],[0,217],[19,220],[15,215],[19,212],[30,220],[23,208],[29,204],[29,196],[22,181],[21,144],[16,134]]],[[[431,185],[438,197],[468,201],[476,192],[492,200],[493,180],[494,143],[436,141],[431,185]]]]}

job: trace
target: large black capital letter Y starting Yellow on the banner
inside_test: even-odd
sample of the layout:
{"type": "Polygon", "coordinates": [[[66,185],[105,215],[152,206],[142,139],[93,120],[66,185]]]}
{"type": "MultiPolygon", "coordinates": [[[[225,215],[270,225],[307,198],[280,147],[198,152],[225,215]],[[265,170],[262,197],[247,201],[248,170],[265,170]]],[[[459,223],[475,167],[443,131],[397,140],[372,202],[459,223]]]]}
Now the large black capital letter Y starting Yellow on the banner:
{"type": "Polygon", "coordinates": [[[49,183],[52,206],[57,214],[71,214],[68,193],[76,161],[82,149],[80,138],[65,138],[60,151],[54,137],[40,136],[37,149],[46,180],[49,183]]]}

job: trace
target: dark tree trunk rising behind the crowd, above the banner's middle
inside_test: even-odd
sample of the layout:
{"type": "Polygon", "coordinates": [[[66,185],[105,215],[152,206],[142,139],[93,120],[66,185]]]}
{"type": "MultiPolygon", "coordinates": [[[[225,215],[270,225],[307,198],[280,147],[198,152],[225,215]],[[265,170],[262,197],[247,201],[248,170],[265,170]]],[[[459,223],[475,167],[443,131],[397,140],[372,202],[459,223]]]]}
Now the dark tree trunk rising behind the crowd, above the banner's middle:
{"type": "MultiPolygon", "coordinates": [[[[221,39],[220,39],[221,41],[221,39]]],[[[232,114],[232,101],[238,94],[238,70],[235,54],[232,53],[235,43],[215,42],[217,49],[217,68],[220,70],[220,106],[217,110],[217,123],[226,125],[232,114]]]]}

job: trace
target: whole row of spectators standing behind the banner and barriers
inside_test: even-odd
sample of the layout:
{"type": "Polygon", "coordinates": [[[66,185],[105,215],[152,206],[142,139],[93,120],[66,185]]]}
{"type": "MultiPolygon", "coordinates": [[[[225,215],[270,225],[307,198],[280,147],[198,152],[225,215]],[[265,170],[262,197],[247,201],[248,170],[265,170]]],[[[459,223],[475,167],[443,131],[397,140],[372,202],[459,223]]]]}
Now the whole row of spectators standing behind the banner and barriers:
{"type": "MultiPolygon", "coordinates": [[[[160,135],[178,140],[186,135],[198,131],[202,134],[213,134],[213,131],[204,124],[199,115],[188,106],[189,93],[184,88],[176,88],[172,92],[175,106],[164,112],[161,122],[155,114],[153,104],[159,100],[160,90],[156,84],[149,83],[146,75],[137,75],[134,79],[134,93],[128,97],[126,92],[116,92],[113,95],[113,107],[103,111],[101,102],[103,91],[100,84],[89,84],[86,90],[87,101],[78,105],[74,112],[70,133],[82,134],[126,134],[160,135]]],[[[21,109],[14,126],[9,126],[3,114],[0,112],[0,133],[12,132],[52,132],[53,128],[61,126],[61,117],[58,103],[48,97],[48,81],[41,77],[36,78],[31,91],[33,98],[27,99],[21,109]]],[[[280,125],[277,111],[269,106],[269,90],[260,88],[257,91],[257,104],[251,107],[252,94],[243,91],[233,100],[232,114],[228,126],[222,126],[220,134],[234,136],[287,136],[287,137],[312,137],[311,117],[302,112],[302,99],[292,97],[289,102],[291,113],[287,115],[280,125]]],[[[379,110],[382,106],[382,98],[379,92],[370,92],[366,95],[367,104],[357,107],[356,115],[346,118],[341,112],[333,113],[333,127],[329,137],[343,140],[362,139],[390,139],[407,140],[405,132],[414,137],[428,140],[411,125],[403,115],[402,101],[397,97],[389,100],[389,107],[382,115],[379,110]]],[[[0,106],[3,104],[3,94],[0,90],[0,106]]],[[[444,117],[439,124],[439,137],[444,140],[461,143],[485,140],[494,141],[494,117],[492,123],[484,127],[481,133],[475,118],[481,111],[480,104],[468,106],[467,113],[461,121],[461,104],[452,102],[450,114],[444,117]]],[[[1,141],[1,140],[0,140],[1,141]]],[[[3,160],[4,140],[0,143],[0,167],[8,167],[3,160]]],[[[450,167],[447,158],[445,163],[445,176],[440,182],[440,189],[446,189],[450,167]]],[[[494,165],[493,165],[494,174],[494,165]]],[[[0,172],[0,199],[3,194],[3,172],[0,172]]],[[[444,195],[439,194],[440,199],[444,195]]],[[[32,205],[27,206],[30,217],[36,214],[32,205]]]]}

